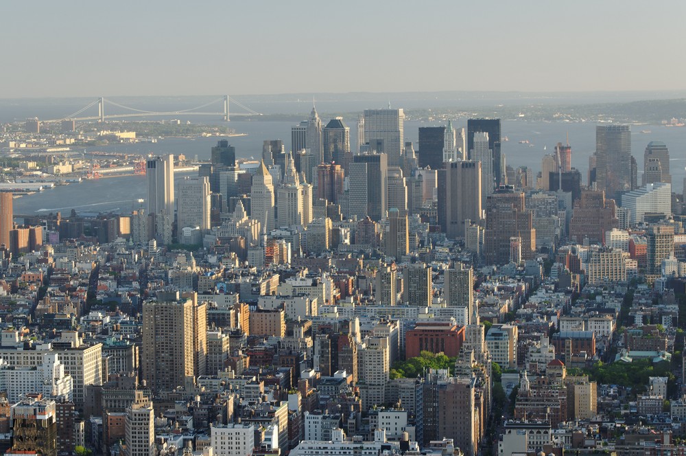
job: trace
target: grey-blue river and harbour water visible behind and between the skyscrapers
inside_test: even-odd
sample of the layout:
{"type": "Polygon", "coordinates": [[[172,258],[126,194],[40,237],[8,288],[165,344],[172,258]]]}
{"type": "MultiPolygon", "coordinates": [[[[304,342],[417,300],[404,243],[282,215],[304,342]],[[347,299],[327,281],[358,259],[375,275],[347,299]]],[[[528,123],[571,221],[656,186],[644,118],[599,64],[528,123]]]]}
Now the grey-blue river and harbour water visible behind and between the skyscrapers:
{"type": "MultiPolygon", "coordinates": [[[[329,119],[322,119],[326,124],[329,119]]],[[[351,146],[356,147],[357,119],[344,119],[351,128],[351,146]]],[[[228,137],[229,144],[236,147],[236,155],[241,158],[260,157],[264,139],[283,139],[288,150],[290,129],[295,122],[232,120],[230,126],[236,133],[246,136],[228,137]]],[[[405,141],[413,141],[415,148],[418,139],[418,127],[432,126],[429,122],[405,122],[405,141]]],[[[466,120],[453,122],[455,126],[465,126],[466,120]]],[[[509,137],[502,144],[507,156],[508,165],[529,166],[538,171],[541,169],[541,158],[554,151],[558,141],[565,142],[569,134],[572,148],[572,166],[580,170],[582,180],[587,181],[589,156],[595,150],[595,124],[565,122],[527,122],[525,120],[503,121],[501,134],[509,137]],[[530,144],[519,144],[528,140],[530,144]]],[[[103,150],[130,152],[137,154],[184,154],[187,159],[209,159],[211,147],[219,137],[180,139],[161,139],[152,144],[117,144],[99,148],[88,148],[88,151],[103,150]]],[[[664,141],[670,149],[670,168],[674,191],[681,192],[682,182],[686,176],[686,128],[666,126],[632,126],[632,154],[639,163],[639,184],[643,170],[643,151],[649,141],[664,141]],[[650,133],[641,133],[650,130],[650,133]]],[[[188,175],[188,174],[186,174],[188,175]]],[[[177,179],[182,179],[182,175],[177,179]]],[[[145,176],[109,177],[97,180],[72,183],[58,186],[51,190],[33,195],[21,196],[14,200],[15,214],[47,214],[60,211],[69,214],[71,209],[77,212],[117,211],[128,213],[138,206],[139,198],[147,198],[145,176]]]]}

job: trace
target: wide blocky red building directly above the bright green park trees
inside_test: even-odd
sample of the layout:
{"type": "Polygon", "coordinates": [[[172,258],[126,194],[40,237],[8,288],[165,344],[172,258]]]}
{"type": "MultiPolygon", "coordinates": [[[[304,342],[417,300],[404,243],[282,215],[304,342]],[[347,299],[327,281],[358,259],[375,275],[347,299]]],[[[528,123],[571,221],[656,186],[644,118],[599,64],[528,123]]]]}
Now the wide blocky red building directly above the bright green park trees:
{"type": "Polygon", "coordinates": [[[448,321],[421,321],[405,334],[405,357],[419,356],[422,351],[443,352],[458,356],[464,343],[464,326],[448,321]]]}

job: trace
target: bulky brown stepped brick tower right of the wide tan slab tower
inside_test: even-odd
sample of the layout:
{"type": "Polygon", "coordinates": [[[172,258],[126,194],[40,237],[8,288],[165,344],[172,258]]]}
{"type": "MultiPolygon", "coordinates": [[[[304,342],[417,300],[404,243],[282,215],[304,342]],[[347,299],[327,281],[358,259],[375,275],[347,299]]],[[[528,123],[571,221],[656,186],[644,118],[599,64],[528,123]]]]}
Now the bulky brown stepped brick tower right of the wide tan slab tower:
{"type": "Polygon", "coordinates": [[[510,238],[521,238],[521,256],[532,260],[536,254],[533,214],[526,209],[524,193],[501,187],[486,202],[484,255],[488,264],[510,261],[510,238]]]}

